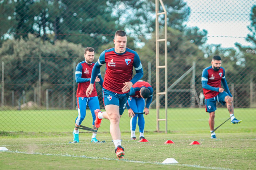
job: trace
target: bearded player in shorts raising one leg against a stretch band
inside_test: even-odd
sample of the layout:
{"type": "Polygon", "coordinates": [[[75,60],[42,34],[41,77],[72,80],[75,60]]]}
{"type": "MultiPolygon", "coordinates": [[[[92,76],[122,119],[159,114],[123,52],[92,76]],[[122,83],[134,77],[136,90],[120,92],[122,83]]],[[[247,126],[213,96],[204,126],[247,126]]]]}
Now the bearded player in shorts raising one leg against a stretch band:
{"type": "Polygon", "coordinates": [[[228,89],[228,84],[225,77],[225,69],[221,67],[221,57],[213,56],[212,65],[203,69],[202,72],[202,87],[205,98],[205,109],[209,113],[209,126],[211,130],[211,138],[216,139],[214,130],[214,117],[216,111],[216,102],[225,105],[231,117],[231,123],[240,123],[242,120],[237,120],[234,117],[233,98],[228,89]],[[221,83],[226,91],[221,87],[221,83]],[[213,132],[213,133],[212,133],[213,132]]]}

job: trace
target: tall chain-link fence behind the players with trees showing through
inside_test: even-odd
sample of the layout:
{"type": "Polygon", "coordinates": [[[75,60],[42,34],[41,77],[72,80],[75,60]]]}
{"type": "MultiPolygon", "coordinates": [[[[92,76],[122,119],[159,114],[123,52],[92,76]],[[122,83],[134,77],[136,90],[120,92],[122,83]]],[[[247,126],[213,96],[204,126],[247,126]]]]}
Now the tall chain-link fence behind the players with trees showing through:
{"type": "MultiPolygon", "coordinates": [[[[163,3],[168,11],[168,130],[209,131],[201,74],[215,54],[222,56],[235,114],[246,120],[245,128],[251,129],[256,123],[256,2],[163,3]],[[241,36],[244,24],[247,34],[241,36]],[[217,28],[222,28],[223,33],[217,28]],[[194,123],[187,123],[188,120],[194,123]]],[[[104,49],[114,47],[114,33],[119,29],[127,32],[127,47],[138,52],[143,80],[155,90],[154,1],[3,0],[0,9],[0,131],[72,131],[77,116],[75,67],[84,60],[85,47],[96,49],[94,62],[104,49]]],[[[161,15],[159,24],[163,36],[161,15]]],[[[160,65],[164,65],[163,56],[164,44],[160,44],[160,65]]],[[[103,78],[104,69],[101,67],[103,78]]],[[[160,91],[165,90],[164,75],[162,71],[160,91]]],[[[101,87],[97,84],[96,88],[104,110],[101,87]]],[[[160,116],[165,113],[164,104],[163,97],[160,116]]],[[[145,118],[145,131],[156,130],[155,107],[154,95],[151,113],[145,118]]],[[[226,106],[217,107],[222,111],[226,106]]],[[[227,110],[222,112],[228,116],[227,110]]],[[[124,116],[127,113],[126,110],[124,116]]],[[[216,116],[215,120],[222,122],[225,116],[216,116]]],[[[128,132],[128,118],[122,119],[121,129],[128,132]]],[[[108,131],[109,122],[104,122],[102,131],[108,131]]],[[[82,124],[90,126],[89,110],[82,124]]],[[[160,127],[164,130],[163,123],[160,127]]]]}

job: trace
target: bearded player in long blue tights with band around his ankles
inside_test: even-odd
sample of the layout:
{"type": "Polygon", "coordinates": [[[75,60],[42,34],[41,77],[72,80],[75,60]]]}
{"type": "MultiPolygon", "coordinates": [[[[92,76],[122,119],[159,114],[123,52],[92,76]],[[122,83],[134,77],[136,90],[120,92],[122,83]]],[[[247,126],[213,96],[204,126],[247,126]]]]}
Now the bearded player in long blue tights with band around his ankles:
{"type": "MultiPolygon", "coordinates": [[[[87,47],[84,50],[85,61],[77,64],[75,69],[75,81],[78,83],[77,91],[76,91],[76,104],[78,116],[75,119],[75,129],[73,131],[73,142],[79,142],[79,127],[86,115],[86,106],[88,104],[91,115],[93,116],[93,130],[98,130],[95,126],[95,113],[96,109],[100,108],[99,99],[97,96],[97,91],[95,88],[95,83],[93,84],[94,90],[91,92],[89,96],[86,96],[86,89],[90,84],[91,72],[93,70],[94,60],[94,48],[87,47]]],[[[100,73],[96,76],[96,82],[102,86],[103,79],[101,78],[100,73]]],[[[91,142],[97,143],[98,140],[96,138],[97,132],[93,132],[93,136],[91,136],[91,142]]]]}

